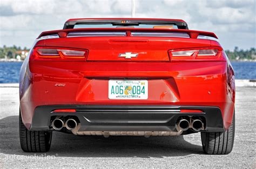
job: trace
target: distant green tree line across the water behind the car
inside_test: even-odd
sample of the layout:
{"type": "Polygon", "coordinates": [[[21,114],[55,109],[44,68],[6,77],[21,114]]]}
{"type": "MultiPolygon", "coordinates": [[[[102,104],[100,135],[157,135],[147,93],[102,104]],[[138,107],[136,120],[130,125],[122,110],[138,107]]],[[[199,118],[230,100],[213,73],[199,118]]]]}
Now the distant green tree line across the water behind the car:
{"type": "MultiPolygon", "coordinates": [[[[4,45],[3,47],[0,47],[0,58],[16,58],[18,55],[21,55],[22,51],[28,52],[29,49],[26,47],[21,48],[20,46],[15,45],[11,47],[4,45]]],[[[255,48],[242,50],[236,46],[233,51],[226,50],[225,52],[230,60],[256,60],[255,48]]]]}

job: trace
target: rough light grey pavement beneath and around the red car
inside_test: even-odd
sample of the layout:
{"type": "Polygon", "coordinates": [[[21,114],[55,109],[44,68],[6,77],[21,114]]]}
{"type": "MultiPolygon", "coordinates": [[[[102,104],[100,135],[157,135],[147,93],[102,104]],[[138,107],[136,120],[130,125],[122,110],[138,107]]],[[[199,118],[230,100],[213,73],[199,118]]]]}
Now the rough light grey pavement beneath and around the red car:
{"type": "Polygon", "coordinates": [[[18,87],[0,85],[0,168],[255,168],[256,87],[237,87],[236,129],[228,155],[204,154],[200,133],[178,137],[79,137],[53,132],[48,153],[24,153],[18,135],[18,87]]]}

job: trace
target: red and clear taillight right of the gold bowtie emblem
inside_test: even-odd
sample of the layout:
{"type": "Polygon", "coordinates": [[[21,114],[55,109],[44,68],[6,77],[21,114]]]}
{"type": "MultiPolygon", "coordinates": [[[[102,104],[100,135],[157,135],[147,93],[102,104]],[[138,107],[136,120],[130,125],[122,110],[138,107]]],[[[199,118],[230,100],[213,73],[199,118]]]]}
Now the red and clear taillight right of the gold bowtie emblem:
{"type": "Polygon", "coordinates": [[[221,48],[199,48],[199,49],[180,49],[170,50],[171,61],[181,60],[225,60],[221,55],[221,48]]]}

